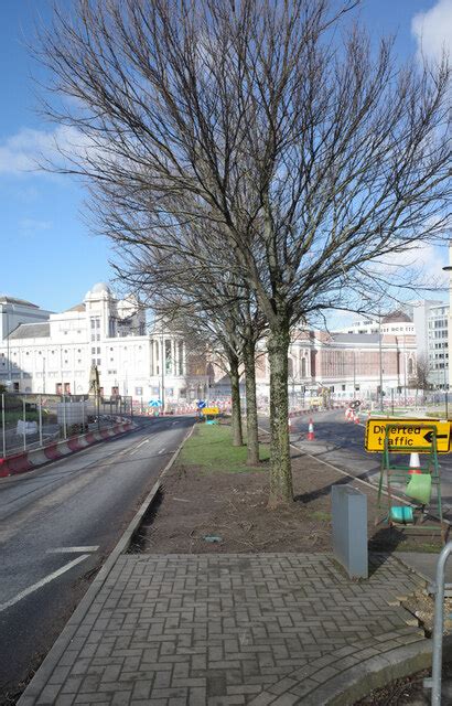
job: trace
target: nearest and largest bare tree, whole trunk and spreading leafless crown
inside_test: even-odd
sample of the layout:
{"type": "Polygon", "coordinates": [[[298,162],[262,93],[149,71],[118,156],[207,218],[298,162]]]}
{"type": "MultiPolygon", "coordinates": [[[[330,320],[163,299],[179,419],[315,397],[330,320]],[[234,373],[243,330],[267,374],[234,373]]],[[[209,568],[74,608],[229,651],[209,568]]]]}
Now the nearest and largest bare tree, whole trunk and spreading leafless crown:
{"type": "Polygon", "coordinates": [[[292,498],[291,325],[400,284],[391,255],[438,240],[449,217],[449,66],[374,50],[343,26],[356,4],[77,0],[42,36],[47,114],[78,135],[61,169],[89,180],[99,227],[151,260],[183,252],[192,274],[219,276],[223,248],[255,292],[272,505],[292,498]]]}

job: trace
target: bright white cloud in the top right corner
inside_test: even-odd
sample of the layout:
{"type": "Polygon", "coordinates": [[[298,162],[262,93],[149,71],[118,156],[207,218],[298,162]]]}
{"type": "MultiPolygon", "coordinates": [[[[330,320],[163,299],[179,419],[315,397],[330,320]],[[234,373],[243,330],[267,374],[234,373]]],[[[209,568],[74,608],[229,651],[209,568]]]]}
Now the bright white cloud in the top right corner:
{"type": "Polygon", "coordinates": [[[427,58],[441,60],[443,51],[452,57],[452,0],[438,0],[427,12],[416,14],[411,32],[427,58]]]}

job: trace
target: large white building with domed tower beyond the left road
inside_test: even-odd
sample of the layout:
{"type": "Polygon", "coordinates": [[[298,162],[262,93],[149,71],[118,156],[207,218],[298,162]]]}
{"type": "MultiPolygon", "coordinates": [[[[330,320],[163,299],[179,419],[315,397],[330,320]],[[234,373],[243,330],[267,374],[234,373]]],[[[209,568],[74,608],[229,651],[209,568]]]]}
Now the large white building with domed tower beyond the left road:
{"type": "Polygon", "coordinates": [[[147,333],[139,301],[116,299],[104,282],[61,313],[28,306],[30,318],[9,327],[0,342],[0,383],[12,391],[86,394],[94,363],[105,396],[176,404],[207,392],[205,371],[192,373],[182,338],[161,329],[147,333]]]}

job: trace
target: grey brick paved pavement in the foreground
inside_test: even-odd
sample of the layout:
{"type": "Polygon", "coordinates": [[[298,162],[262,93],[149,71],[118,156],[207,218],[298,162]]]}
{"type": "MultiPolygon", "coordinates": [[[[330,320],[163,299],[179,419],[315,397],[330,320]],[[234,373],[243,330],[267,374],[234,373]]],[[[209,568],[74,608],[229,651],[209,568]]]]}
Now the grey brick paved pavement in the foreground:
{"type": "Polygon", "coordinates": [[[354,582],[325,554],[122,555],[20,704],[315,704],[344,670],[423,640],[398,603],[423,584],[380,559],[354,582]]]}

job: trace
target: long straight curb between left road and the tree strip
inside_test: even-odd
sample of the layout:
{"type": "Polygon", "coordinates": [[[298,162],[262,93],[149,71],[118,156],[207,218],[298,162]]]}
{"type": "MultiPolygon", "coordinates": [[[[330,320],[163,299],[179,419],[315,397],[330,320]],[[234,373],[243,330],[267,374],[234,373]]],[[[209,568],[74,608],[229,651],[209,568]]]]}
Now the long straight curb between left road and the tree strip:
{"type": "Polygon", "coordinates": [[[128,549],[128,547],[130,546],[130,542],[132,539],[132,536],[133,536],[134,532],[137,531],[137,528],[139,527],[140,522],[142,520],[144,513],[148,511],[149,506],[151,505],[151,503],[155,499],[155,495],[157,495],[157,493],[158,493],[158,491],[159,491],[159,489],[161,486],[162,478],[164,478],[164,475],[168,473],[168,471],[174,464],[177,456],[181,452],[182,447],[184,446],[185,441],[191,437],[191,435],[193,434],[193,430],[194,430],[194,426],[191,427],[189,432],[184,436],[184,438],[182,439],[182,441],[179,445],[177,449],[174,451],[172,458],[170,459],[170,461],[166,463],[166,466],[164,467],[164,469],[160,473],[160,475],[159,475],[158,480],[155,481],[155,483],[153,484],[151,491],[149,492],[149,494],[147,495],[144,501],[141,503],[141,505],[140,505],[138,512],[136,513],[136,515],[132,517],[132,520],[131,520],[129,526],[127,527],[126,532],[122,534],[121,538],[119,539],[118,544],[112,549],[111,554],[107,557],[107,560],[101,566],[100,570],[98,571],[98,574],[94,578],[93,582],[89,585],[86,593],[82,598],[82,600],[78,603],[77,608],[74,610],[73,614],[68,619],[66,625],[63,628],[63,631],[61,632],[61,634],[56,639],[55,643],[51,648],[51,651],[49,652],[49,654],[46,655],[46,657],[44,659],[44,661],[42,662],[42,664],[37,668],[37,672],[33,676],[33,678],[30,682],[30,684],[26,686],[26,688],[23,692],[23,694],[20,696],[20,698],[19,698],[19,700],[17,703],[17,706],[32,706],[39,699],[40,694],[42,693],[43,688],[49,683],[53,671],[57,666],[57,664],[58,664],[64,651],[71,644],[76,631],[78,630],[78,628],[82,624],[83,619],[85,618],[85,616],[88,612],[89,608],[92,607],[93,602],[97,598],[97,595],[99,593],[101,587],[104,586],[105,581],[107,580],[107,578],[108,578],[111,569],[114,568],[116,561],[118,560],[119,556],[121,554],[123,554],[128,549]]]}

